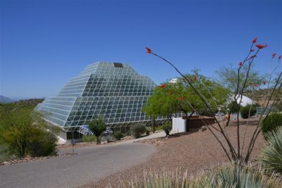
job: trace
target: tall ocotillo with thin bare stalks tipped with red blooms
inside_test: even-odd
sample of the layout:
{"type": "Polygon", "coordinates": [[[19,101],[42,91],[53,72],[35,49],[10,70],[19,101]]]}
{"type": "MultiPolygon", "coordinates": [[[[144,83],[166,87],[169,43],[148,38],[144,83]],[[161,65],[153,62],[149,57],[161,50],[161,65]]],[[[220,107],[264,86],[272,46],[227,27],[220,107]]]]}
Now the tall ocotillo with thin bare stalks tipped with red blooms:
{"type": "MultiPolygon", "coordinates": [[[[257,58],[259,51],[261,51],[262,49],[265,49],[266,47],[267,45],[265,44],[257,44],[257,37],[255,37],[255,39],[252,40],[252,44],[247,53],[247,56],[243,59],[243,61],[238,63],[238,70],[237,70],[237,75],[236,75],[237,77],[236,89],[235,89],[235,92],[232,94],[233,101],[238,101],[238,104],[240,104],[241,101],[243,100],[243,94],[246,92],[247,87],[250,87],[250,85],[255,86],[255,87],[259,87],[261,84],[266,85],[266,89],[268,91],[265,96],[264,106],[262,107],[262,113],[259,115],[259,120],[255,127],[255,131],[252,133],[252,137],[250,139],[250,142],[246,145],[247,146],[246,149],[244,150],[245,134],[244,134],[243,142],[242,140],[240,140],[240,126],[239,126],[240,125],[240,118],[239,118],[240,106],[235,107],[236,105],[235,102],[232,103],[233,105],[231,106],[231,109],[236,108],[237,110],[237,118],[236,118],[237,119],[236,121],[237,143],[236,144],[231,143],[231,140],[228,137],[228,133],[226,132],[226,127],[228,127],[228,125],[231,123],[231,111],[228,111],[228,115],[227,115],[228,118],[226,121],[220,121],[214,115],[216,125],[207,126],[209,131],[212,132],[216,140],[221,145],[229,161],[235,161],[238,163],[246,163],[247,161],[250,160],[250,154],[252,153],[252,150],[254,149],[255,142],[257,140],[259,132],[261,132],[262,127],[259,126],[259,123],[262,120],[262,115],[264,115],[265,113],[266,115],[269,114],[270,111],[266,111],[266,109],[271,108],[273,106],[274,102],[276,101],[278,92],[280,92],[281,87],[282,87],[282,82],[281,82],[282,72],[281,71],[279,71],[278,73],[276,72],[278,68],[278,63],[281,61],[282,56],[278,56],[277,58],[278,63],[276,64],[275,68],[273,68],[272,70],[271,68],[269,68],[270,71],[268,75],[268,80],[266,81],[263,80],[262,83],[249,83],[248,82],[248,78],[250,77],[250,70],[252,68],[255,58],[257,58]],[[242,74],[241,74],[241,71],[243,71],[243,67],[245,68],[244,77],[242,77],[242,74]],[[273,78],[272,76],[276,73],[277,73],[277,76],[273,78]],[[221,139],[222,137],[223,139],[221,139]]],[[[166,58],[154,53],[152,49],[148,47],[146,47],[146,49],[147,49],[148,54],[157,56],[158,58],[161,58],[161,60],[163,60],[164,62],[171,65],[176,70],[176,72],[179,73],[181,77],[183,77],[183,80],[187,83],[187,86],[191,87],[192,90],[197,94],[197,96],[200,97],[204,106],[206,106],[206,108],[210,112],[212,112],[211,104],[207,101],[206,97],[200,92],[200,90],[194,86],[192,81],[188,79],[188,77],[186,77],[183,73],[181,73],[180,70],[178,70],[178,68],[176,68],[176,66],[173,65],[173,63],[166,60],[166,58]]],[[[276,54],[272,54],[271,62],[273,61],[275,57],[276,57],[276,54]]],[[[186,98],[181,98],[181,100],[185,101],[185,104],[187,104],[193,111],[197,111],[197,109],[193,108],[193,106],[190,104],[190,102],[186,98]]],[[[214,103],[216,103],[216,101],[214,101],[214,103]]],[[[203,120],[203,123],[207,125],[207,123],[204,120],[203,120]]],[[[247,130],[245,130],[245,132],[246,131],[247,130]]]]}

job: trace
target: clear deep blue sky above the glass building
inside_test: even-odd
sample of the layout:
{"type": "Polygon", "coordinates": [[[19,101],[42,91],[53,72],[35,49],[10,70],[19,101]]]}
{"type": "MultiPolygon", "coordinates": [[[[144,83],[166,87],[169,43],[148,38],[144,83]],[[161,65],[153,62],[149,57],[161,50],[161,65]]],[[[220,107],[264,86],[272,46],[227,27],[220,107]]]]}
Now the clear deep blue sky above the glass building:
{"type": "Polygon", "coordinates": [[[282,1],[13,1],[0,0],[0,94],[54,96],[97,61],[130,63],[157,84],[183,73],[215,76],[238,66],[254,37],[268,44],[261,73],[282,52],[282,1]]]}

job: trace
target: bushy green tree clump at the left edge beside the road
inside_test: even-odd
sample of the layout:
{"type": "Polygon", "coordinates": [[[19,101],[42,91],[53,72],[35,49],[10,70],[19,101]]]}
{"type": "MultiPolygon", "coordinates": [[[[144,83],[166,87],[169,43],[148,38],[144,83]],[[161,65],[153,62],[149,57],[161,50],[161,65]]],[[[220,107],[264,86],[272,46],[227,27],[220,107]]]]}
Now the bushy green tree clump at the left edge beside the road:
{"type": "Polygon", "coordinates": [[[47,130],[47,126],[39,124],[31,109],[17,108],[1,119],[1,139],[15,151],[16,156],[48,156],[56,153],[56,136],[47,130]]]}

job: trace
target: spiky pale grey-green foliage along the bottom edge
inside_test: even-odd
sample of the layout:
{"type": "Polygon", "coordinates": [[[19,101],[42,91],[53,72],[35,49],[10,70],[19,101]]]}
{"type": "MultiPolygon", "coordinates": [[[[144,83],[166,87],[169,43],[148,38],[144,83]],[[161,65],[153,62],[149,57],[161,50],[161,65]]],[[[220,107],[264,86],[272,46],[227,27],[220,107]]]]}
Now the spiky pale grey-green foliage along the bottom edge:
{"type": "Polygon", "coordinates": [[[214,168],[209,173],[200,173],[188,178],[187,172],[163,170],[161,173],[149,172],[144,174],[144,179],[121,182],[115,187],[132,188],[257,188],[257,187],[281,187],[280,179],[274,175],[266,176],[261,168],[254,170],[252,165],[243,166],[227,164],[214,168]]]}

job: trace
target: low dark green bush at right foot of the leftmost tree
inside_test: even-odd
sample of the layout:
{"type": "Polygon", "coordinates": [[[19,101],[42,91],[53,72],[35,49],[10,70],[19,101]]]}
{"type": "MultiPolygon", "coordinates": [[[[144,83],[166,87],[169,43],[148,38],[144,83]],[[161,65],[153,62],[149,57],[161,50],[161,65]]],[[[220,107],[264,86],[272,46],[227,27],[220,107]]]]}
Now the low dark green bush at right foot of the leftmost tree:
{"type": "Polygon", "coordinates": [[[32,157],[56,155],[56,142],[56,135],[37,128],[33,130],[33,137],[27,147],[27,152],[32,157]]]}

